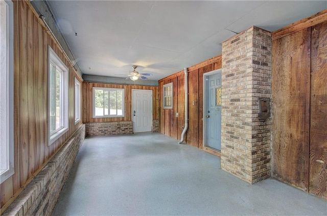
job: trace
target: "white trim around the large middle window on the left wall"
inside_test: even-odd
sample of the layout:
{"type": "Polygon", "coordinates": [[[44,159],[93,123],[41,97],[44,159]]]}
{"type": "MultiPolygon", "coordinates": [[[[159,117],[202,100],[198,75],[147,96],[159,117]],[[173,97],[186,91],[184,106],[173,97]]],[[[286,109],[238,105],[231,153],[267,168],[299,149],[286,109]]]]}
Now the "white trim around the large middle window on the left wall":
{"type": "MultiPolygon", "coordinates": [[[[50,95],[48,95],[48,132],[49,132],[49,146],[61,137],[64,133],[69,130],[69,118],[68,118],[68,83],[69,83],[69,70],[68,67],[61,61],[54,50],[49,45],[49,62],[48,62],[48,74],[50,75],[50,62],[56,64],[63,71],[63,128],[56,133],[50,135],[50,95]]],[[[50,76],[48,76],[48,86],[50,87],[50,76]]],[[[50,90],[49,90],[50,94],[50,90]]]]}

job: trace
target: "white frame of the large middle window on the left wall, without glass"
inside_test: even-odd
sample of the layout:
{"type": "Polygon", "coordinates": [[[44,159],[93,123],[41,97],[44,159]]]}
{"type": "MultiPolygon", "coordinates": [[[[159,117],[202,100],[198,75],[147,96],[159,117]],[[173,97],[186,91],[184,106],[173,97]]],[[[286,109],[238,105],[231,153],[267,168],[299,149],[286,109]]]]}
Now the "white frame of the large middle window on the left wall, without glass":
{"type": "Polygon", "coordinates": [[[69,130],[69,118],[68,118],[68,85],[69,85],[69,69],[68,67],[62,62],[62,60],[57,56],[54,50],[49,45],[49,59],[48,59],[48,132],[49,132],[49,144],[50,146],[54,141],[56,141],[59,137],[61,137],[64,133],[69,130]],[[51,109],[51,64],[54,65],[56,68],[59,68],[62,72],[61,77],[61,92],[60,92],[60,103],[61,103],[61,110],[62,113],[61,121],[62,121],[62,128],[55,130],[54,132],[50,131],[51,128],[51,121],[50,121],[50,109],[51,109]]]}

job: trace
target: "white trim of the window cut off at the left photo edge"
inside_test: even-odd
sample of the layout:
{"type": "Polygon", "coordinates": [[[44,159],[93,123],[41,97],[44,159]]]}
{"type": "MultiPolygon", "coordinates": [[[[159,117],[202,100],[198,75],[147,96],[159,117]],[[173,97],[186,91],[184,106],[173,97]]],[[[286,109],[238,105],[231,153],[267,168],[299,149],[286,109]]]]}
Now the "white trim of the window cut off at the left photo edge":
{"type": "MultiPolygon", "coordinates": [[[[1,98],[2,105],[4,107],[1,108],[2,111],[6,111],[7,119],[5,119],[6,127],[3,127],[1,125],[0,134],[2,134],[2,140],[0,145],[0,151],[1,154],[1,163],[6,163],[7,169],[0,171],[0,182],[3,183],[5,180],[7,180],[9,177],[11,177],[15,171],[14,171],[14,81],[13,81],[13,74],[14,74],[14,42],[13,42],[13,32],[14,32],[14,16],[13,16],[13,3],[12,1],[3,1],[0,0],[2,3],[5,3],[6,5],[6,17],[2,14],[1,19],[5,18],[7,21],[7,27],[6,27],[6,39],[5,43],[7,48],[7,55],[4,57],[1,54],[1,62],[6,62],[7,64],[1,65],[1,73],[4,73],[5,75],[1,75],[1,77],[4,76],[4,79],[6,80],[5,88],[1,87],[1,91],[6,94],[6,99],[1,98]],[[3,101],[4,100],[4,101],[3,101]],[[3,110],[3,108],[5,110],[3,110]],[[3,142],[3,140],[6,140],[3,142]],[[5,149],[5,150],[4,150],[5,149]],[[5,155],[3,155],[5,153],[5,155]],[[5,158],[4,158],[4,157],[5,158]]],[[[3,31],[3,30],[1,30],[3,31]]],[[[3,41],[1,40],[0,43],[3,41]]],[[[2,44],[1,44],[2,45],[2,44]]],[[[1,106],[2,106],[1,105],[1,106]]],[[[3,122],[2,122],[3,123],[3,122]]]]}

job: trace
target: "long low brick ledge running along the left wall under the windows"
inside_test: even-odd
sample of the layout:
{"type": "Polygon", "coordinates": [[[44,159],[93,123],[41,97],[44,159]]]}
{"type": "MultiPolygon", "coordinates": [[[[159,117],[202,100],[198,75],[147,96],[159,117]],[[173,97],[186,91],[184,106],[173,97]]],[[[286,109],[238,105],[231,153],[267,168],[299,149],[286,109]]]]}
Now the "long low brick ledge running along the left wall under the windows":
{"type": "Polygon", "coordinates": [[[82,125],[26,186],[3,215],[51,215],[84,137],[85,125],[82,125]]]}

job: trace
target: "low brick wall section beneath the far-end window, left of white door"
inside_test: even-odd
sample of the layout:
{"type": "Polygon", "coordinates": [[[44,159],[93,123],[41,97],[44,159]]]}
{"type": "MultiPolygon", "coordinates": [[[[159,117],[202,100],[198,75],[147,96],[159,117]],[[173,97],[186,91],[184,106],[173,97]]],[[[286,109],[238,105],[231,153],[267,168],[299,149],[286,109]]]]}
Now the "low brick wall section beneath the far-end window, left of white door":
{"type": "Polygon", "coordinates": [[[133,122],[101,122],[86,123],[85,135],[115,135],[115,134],[131,134],[133,133],[133,122]]]}

